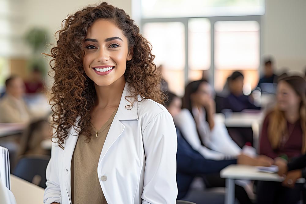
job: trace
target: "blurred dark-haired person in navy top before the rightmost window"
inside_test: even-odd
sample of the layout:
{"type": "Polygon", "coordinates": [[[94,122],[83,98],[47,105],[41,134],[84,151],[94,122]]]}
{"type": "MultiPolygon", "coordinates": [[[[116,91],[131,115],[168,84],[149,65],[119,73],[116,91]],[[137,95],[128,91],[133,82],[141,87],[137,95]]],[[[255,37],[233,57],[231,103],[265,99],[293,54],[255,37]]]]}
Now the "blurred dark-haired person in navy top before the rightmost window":
{"type": "Polygon", "coordinates": [[[255,106],[249,96],[243,94],[243,79],[241,72],[235,71],[228,77],[229,95],[224,98],[222,109],[230,109],[233,112],[241,112],[245,109],[259,110],[260,107],[255,106]]]}

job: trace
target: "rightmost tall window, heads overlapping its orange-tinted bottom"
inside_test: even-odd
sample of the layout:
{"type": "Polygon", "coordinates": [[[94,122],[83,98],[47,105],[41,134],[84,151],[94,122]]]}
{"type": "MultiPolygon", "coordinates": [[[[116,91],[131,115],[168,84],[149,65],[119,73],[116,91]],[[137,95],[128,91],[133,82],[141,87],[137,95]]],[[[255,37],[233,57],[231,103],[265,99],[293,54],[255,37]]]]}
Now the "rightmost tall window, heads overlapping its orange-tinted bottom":
{"type": "Polygon", "coordinates": [[[227,77],[235,70],[244,73],[246,87],[254,88],[259,68],[258,22],[218,21],[214,32],[215,89],[221,91],[227,77]]]}

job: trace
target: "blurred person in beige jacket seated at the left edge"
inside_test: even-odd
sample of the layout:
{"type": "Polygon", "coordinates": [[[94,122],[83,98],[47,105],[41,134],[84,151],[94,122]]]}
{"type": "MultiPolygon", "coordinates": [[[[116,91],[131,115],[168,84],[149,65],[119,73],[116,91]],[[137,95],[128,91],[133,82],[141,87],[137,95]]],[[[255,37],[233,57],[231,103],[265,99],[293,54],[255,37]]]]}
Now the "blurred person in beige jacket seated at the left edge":
{"type": "Polygon", "coordinates": [[[24,82],[18,76],[5,81],[6,94],[0,100],[0,123],[27,123],[31,113],[23,100],[24,82]]]}

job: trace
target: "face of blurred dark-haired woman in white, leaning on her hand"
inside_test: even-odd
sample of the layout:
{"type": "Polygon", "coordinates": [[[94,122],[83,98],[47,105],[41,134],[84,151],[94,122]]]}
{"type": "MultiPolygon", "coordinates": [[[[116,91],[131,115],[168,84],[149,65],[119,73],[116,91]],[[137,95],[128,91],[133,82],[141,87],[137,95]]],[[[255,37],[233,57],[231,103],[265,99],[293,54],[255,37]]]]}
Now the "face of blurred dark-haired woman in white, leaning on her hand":
{"type": "Polygon", "coordinates": [[[197,104],[200,104],[202,106],[206,106],[212,98],[211,87],[208,83],[202,82],[199,85],[198,90],[192,95],[193,96],[191,97],[191,100],[193,102],[196,102],[197,104]]]}

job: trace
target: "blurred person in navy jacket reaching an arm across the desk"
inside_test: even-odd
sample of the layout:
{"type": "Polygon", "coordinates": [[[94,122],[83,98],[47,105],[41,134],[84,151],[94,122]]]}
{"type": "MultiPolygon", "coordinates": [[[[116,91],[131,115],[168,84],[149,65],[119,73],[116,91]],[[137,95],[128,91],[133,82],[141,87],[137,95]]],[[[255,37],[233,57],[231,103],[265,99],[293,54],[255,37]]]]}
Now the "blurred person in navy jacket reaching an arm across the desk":
{"type": "MultiPolygon", "coordinates": [[[[204,84],[207,83],[204,80],[201,82],[204,82],[204,84]]],[[[195,83],[198,83],[198,81],[195,83]]],[[[167,100],[164,106],[170,112],[172,117],[175,118],[175,121],[177,121],[180,119],[182,106],[181,98],[176,96],[174,93],[166,92],[165,94],[167,96],[167,100]]],[[[181,123],[179,122],[179,124],[181,123]]],[[[186,125],[188,125],[188,122],[186,125]]],[[[206,187],[225,187],[225,179],[221,179],[218,174],[226,166],[230,164],[270,166],[273,162],[273,160],[269,159],[268,157],[259,156],[257,158],[251,158],[244,154],[239,154],[236,158],[232,159],[207,159],[205,156],[203,156],[203,151],[202,154],[199,153],[188,143],[188,141],[190,142],[190,134],[193,134],[193,131],[188,133],[185,131],[186,128],[183,128],[183,132],[185,132],[185,134],[182,134],[178,125],[176,125],[176,128],[178,187],[177,199],[192,201],[198,204],[223,204],[223,195],[220,196],[220,193],[218,192],[208,191],[203,188],[192,188],[191,186],[193,180],[200,176],[206,187]]],[[[207,155],[207,157],[209,156],[207,155]]],[[[235,196],[240,203],[252,203],[243,187],[236,185],[235,191],[235,196]]]]}

